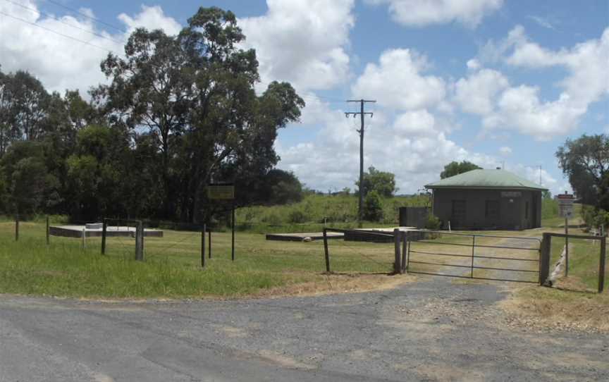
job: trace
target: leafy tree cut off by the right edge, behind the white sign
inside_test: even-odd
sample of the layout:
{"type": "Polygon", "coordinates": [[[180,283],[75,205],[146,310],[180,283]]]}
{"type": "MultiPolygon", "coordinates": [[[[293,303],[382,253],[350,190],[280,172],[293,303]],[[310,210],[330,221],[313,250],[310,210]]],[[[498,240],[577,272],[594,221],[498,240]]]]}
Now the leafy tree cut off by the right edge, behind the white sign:
{"type": "Polygon", "coordinates": [[[556,152],[562,173],[584,204],[609,211],[609,136],[567,139],[556,152]]]}

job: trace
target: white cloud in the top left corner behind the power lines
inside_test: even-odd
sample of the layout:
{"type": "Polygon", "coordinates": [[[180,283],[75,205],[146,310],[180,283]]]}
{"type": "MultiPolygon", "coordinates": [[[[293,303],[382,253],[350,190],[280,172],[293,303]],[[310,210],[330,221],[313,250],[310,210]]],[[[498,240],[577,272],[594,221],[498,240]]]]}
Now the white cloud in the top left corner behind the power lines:
{"type": "MultiPolygon", "coordinates": [[[[21,4],[37,9],[33,1],[21,1],[21,4]]],[[[55,20],[6,1],[0,1],[0,11],[23,19],[0,15],[2,70],[28,70],[51,91],[63,93],[66,89],[79,89],[81,94],[86,94],[91,86],[105,82],[99,63],[106,58],[108,51],[121,54],[128,37],[99,30],[87,18],[61,16],[55,20]]],[[[91,11],[85,11],[93,15],[91,11]]],[[[166,27],[169,33],[179,29],[179,24],[173,18],[164,16],[160,7],[142,6],[142,11],[137,15],[130,17],[123,14],[119,18],[128,28],[166,27]]]]}

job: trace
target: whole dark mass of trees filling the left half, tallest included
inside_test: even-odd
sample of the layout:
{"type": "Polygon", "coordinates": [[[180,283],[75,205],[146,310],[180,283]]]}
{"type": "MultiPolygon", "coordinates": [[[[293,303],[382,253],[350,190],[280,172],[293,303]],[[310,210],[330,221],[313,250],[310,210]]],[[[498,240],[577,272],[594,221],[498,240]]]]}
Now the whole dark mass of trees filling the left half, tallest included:
{"type": "Polygon", "coordinates": [[[254,91],[243,39],[220,8],[199,8],[177,36],[138,29],[125,56],[101,62],[108,83],[89,100],[0,70],[1,210],[197,223],[226,208],[209,183],[234,183],[238,205],[299,200],[273,144],[305,102],[287,82],[254,91]]]}

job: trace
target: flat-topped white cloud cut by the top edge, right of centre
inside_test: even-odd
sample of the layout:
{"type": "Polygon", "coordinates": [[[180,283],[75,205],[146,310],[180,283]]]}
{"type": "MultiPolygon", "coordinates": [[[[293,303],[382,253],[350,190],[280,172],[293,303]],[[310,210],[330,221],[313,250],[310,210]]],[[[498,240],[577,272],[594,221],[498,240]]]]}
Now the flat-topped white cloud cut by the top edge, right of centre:
{"type": "Polygon", "coordinates": [[[388,4],[393,20],[402,25],[422,27],[431,24],[461,23],[478,25],[484,16],[497,11],[503,0],[368,0],[388,4]]]}

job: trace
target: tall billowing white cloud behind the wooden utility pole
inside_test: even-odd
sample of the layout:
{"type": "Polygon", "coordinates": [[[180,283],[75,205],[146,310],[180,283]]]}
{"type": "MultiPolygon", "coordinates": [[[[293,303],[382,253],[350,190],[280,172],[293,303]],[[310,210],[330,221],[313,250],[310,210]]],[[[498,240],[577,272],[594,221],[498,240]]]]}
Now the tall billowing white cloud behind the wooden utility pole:
{"type": "MultiPolygon", "coordinates": [[[[364,71],[352,90],[358,94],[358,90],[365,89],[366,94],[379,98],[374,118],[366,120],[365,168],[375,166],[382,171],[395,173],[400,192],[415,192],[426,183],[438,180],[443,166],[453,160],[467,159],[482,166],[496,166],[497,161],[492,157],[469,152],[450,140],[446,133],[451,128],[450,123],[444,120],[442,114],[434,115],[430,109],[421,106],[433,105],[429,99],[442,99],[442,82],[431,80],[431,83],[442,85],[438,87],[438,94],[422,97],[424,101],[412,98],[408,90],[405,92],[404,89],[408,87],[412,92],[426,90],[424,85],[417,85],[417,82],[424,84],[430,80],[418,73],[425,66],[424,59],[413,59],[410,51],[398,50],[385,52],[380,61],[379,66],[369,66],[364,71]],[[398,58],[398,61],[391,62],[390,57],[398,58]],[[401,67],[410,70],[410,73],[398,75],[400,73],[394,73],[390,63],[397,66],[402,64],[401,67]],[[387,82],[390,96],[370,92],[376,89],[371,86],[376,80],[383,83],[385,76],[393,74],[397,77],[387,82]],[[397,105],[394,99],[398,100],[397,105]],[[394,116],[396,109],[398,113],[394,116]]],[[[417,97],[421,97],[421,94],[417,94],[417,97]]],[[[317,114],[317,118],[323,128],[319,135],[308,142],[285,145],[280,138],[276,144],[281,156],[278,166],[294,171],[304,183],[317,190],[354,187],[359,171],[359,135],[356,131],[359,118],[345,118],[342,111],[329,108],[317,114]]]]}

